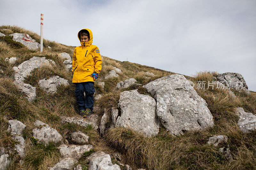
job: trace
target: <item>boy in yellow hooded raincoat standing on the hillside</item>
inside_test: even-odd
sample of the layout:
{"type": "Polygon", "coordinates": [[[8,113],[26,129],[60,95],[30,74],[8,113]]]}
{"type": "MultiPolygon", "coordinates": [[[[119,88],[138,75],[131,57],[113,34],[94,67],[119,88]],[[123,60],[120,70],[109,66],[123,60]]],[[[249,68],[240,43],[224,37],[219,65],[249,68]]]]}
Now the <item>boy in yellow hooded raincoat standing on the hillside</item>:
{"type": "Polygon", "coordinates": [[[81,46],[74,50],[72,62],[72,83],[76,84],[76,103],[80,115],[85,118],[93,114],[94,81],[98,78],[101,70],[100,50],[92,45],[92,31],[82,29],[78,32],[81,46]],[[85,92],[85,97],[84,97],[85,92]]]}

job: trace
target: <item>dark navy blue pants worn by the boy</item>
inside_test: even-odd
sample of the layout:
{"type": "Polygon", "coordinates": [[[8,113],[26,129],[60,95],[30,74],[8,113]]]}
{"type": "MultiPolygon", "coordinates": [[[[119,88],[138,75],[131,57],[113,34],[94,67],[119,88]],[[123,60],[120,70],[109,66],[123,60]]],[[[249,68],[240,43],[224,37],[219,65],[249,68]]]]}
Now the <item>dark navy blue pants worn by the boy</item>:
{"type": "Polygon", "coordinates": [[[76,83],[76,103],[78,105],[79,110],[85,110],[86,108],[93,109],[93,94],[95,92],[94,82],[82,82],[76,83]],[[85,97],[84,97],[85,92],[85,97]]]}

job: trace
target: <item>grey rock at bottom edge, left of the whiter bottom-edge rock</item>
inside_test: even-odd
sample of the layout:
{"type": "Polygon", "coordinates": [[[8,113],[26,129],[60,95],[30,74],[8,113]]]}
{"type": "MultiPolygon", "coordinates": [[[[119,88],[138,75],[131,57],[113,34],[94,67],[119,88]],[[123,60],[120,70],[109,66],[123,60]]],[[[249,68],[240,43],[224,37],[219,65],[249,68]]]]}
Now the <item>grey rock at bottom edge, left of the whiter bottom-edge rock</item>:
{"type": "Polygon", "coordinates": [[[73,170],[77,160],[71,157],[61,159],[55,166],[49,168],[49,170],[73,170]]]}

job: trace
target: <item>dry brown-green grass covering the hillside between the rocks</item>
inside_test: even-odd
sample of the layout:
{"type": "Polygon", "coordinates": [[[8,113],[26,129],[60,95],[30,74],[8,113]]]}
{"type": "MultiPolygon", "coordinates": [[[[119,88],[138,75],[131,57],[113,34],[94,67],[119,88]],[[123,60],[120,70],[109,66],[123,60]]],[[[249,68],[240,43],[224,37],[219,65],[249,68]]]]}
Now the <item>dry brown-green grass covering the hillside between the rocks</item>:
{"type": "MultiPolygon", "coordinates": [[[[11,33],[27,33],[37,42],[40,36],[18,26],[0,26],[0,32],[6,35],[11,33]]],[[[15,141],[7,131],[8,120],[17,119],[26,125],[23,136],[26,141],[26,156],[24,163],[20,164],[20,158],[11,155],[10,169],[47,169],[60,159],[57,147],[60,144],[48,146],[36,144],[32,138],[32,129],[36,120],[43,121],[62,135],[69,142],[69,132],[82,131],[87,134],[94,151],[106,153],[119,152],[122,155],[122,163],[135,168],[146,169],[255,169],[256,167],[256,132],[242,133],[236,122],[238,116],[234,114],[236,107],[243,107],[244,111],[256,114],[256,93],[246,95],[233,91],[236,98],[232,98],[227,90],[214,88],[213,90],[201,90],[194,88],[196,92],[206,100],[208,108],[214,117],[214,127],[186,132],[181,136],[170,136],[164,127],[156,137],[144,137],[132,129],[114,128],[109,129],[105,137],[100,137],[99,132],[92,127],[80,127],[76,124],[62,124],[60,116],[76,116],[75,86],[71,83],[71,72],[65,70],[63,60],[57,54],[66,52],[71,57],[75,47],[66,46],[54,41],[44,40],[44,50],[28,50],[20,43],[12,41],[9,36],[0,37],[0,147],[13,146],[15,141]],[[50,46],[51,48],[47,48],[50,46]],[[44,56],[55,61],[56,66],[44,66],[34,70],[26,78],[26,82],[36,87],[36,100],[28,102],[25,96],[19,92],[14,81],[12,67],[30,59],[33,56],[44,56]],[[14,64],[5,62],[6,57],[17,57],[14,64]],[[2,70],[2,71],[1,71],[2,70]],[[39,88],[38,81],[58,75],[68,80],[68,86],[60,86],[55,94],[48,94],[39,88]],[[233,161],[228,161],[225,154],[219,152],[219,147],[206,145],[212,135],[227,135],[228,145],[233,156],[233,161]]],[[[99,107],[95,114],[103,115],[104,108],[110,114],[111,107],[117,107],[120,92],[124,90],[139,89],[140,93],[146,94],[142,86],[134,85],[127,89],[114,91],[116,84],[127,78],[135,78],[138,83],[146,84],[157,78],[175,74],[153,67],[136,63],[120,62],[108,57],[103,57],[100,78],[104,77],[113,67],[120,68],[123,72],[117,78],[98,79],[95,83],[96,94],[103,94],[100,100],[95,102],[99,107]],[[152,72],[156,76],[147,79],[144,72],[152,72]],[[97,84],[105,82],[104,90],[97,84]]],[[[197,81],[213,81],[216,72],[199,72],[195,77],[185,76],[187,79],[197,81]]],[[[110,116],[111,117],[111,116],[110,116]]],[[[109,120],[110,121],[110,120],[109,120]]],[[[110,123],[109,123],[110,124],[110,123]]],[[[72,143],[72,142],[71,142],[72,143]]],[[[227,145],[223,144],[222,146],[227,145]]],[[[86,169],[84,155],[79,163],[86,169]]]]}

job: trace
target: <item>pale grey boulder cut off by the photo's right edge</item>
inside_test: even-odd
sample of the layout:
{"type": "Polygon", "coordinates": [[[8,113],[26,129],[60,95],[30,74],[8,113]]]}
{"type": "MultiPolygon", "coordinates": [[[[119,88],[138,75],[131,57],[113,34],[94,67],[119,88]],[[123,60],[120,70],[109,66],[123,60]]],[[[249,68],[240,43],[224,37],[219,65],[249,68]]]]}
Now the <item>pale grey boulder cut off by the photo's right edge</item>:
{"type": "Polygon", "coordinates": [[[236,108],[236,115],[239,116],[237,125],[244,133],[250,133],[256,130],[256,116],[252,113],[247,113],[242,107],[236,108]]]}

